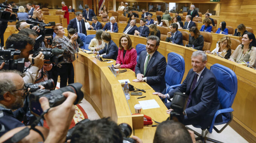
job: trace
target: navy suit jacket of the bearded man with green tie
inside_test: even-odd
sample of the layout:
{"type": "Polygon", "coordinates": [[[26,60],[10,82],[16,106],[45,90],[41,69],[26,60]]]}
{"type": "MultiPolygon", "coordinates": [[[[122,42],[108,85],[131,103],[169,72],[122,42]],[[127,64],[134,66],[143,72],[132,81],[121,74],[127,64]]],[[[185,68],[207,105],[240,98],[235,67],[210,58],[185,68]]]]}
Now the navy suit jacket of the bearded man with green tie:
{"type": "MultiPolygon", "coordinates": [[[[142,51],[140,53],[139,60],[135,67],[135,74],[144,73],[144,62],[147,56],[147,51],[142,51]]],[[[144,77],[147,77],[147,83],[150,85],[156,92],[161,92],[165,94],[166,84],[165,84],[165,69],[166,69],[166,60],[165,57],[160,54],[158,51],[155,51],[146,69],[144,77]]]]}

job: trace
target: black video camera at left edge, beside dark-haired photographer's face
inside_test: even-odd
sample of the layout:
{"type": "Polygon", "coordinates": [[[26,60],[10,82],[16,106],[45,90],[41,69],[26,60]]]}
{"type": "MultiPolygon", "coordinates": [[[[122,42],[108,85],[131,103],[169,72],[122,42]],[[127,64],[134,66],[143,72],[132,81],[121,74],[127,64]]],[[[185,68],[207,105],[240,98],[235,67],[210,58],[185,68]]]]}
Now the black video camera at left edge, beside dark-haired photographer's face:
{"type": "Polygon", "coordinates": [[[15,49],[7,49],[4,50],[0,48],[0,65],[5,62],[5,65],[3,66],[3,69],[16,69],[20,72],[24,72],[24,60],[25,58],[20,58],[17,60],[14,60],[13,57],[15,55],[20,55],[20,50],[15,49]]]}

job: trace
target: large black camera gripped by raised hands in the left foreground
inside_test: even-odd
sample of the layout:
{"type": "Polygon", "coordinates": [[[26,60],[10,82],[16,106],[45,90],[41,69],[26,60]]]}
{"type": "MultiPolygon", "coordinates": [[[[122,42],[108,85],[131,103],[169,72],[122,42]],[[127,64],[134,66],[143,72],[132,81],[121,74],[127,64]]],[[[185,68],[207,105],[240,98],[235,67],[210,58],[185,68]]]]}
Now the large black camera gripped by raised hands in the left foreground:
{"type": "Polygon", "coordinates": [[[29,95],[29,105],[31,113],[40,116],[43,113],[41,105],[39,103],[39,98],[45,96],[49,100],[50,107],[55,107],[57,105],[62,104],[66,98],[62,95],[63,92],[70,91],[76,93],[77,98],[74,102],[74,105],[79,104],[83,99],[83,92],[81,91],[82,84],[81,83],[72,83],[66,87],[62,87],[58,90],[37,90],[29,95]]]}

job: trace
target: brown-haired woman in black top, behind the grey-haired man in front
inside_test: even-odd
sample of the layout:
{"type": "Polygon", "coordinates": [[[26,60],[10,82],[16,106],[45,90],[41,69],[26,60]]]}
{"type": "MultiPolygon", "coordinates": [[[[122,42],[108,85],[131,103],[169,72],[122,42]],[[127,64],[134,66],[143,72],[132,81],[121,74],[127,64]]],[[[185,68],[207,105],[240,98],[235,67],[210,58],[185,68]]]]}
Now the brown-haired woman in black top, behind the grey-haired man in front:
{"type": "Polygon", "coordinates": [[[204,37],[200,35],[199,30],[195,26],[191,27],[189,32],[189,43],[186,47],[202,51],[204,47],[204,37]]]}

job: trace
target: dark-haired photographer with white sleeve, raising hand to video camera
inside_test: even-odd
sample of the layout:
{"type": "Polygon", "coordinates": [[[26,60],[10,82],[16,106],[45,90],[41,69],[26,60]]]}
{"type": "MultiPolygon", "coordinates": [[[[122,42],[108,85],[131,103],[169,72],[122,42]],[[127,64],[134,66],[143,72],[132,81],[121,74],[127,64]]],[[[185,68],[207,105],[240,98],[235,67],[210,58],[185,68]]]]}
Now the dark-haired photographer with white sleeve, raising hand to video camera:
{"type": "Polygon", "coordinates": [[[33,63],[25,72],[25,76],[23,77],[25,83],[34,83],[38,70],[44,64],[44,55],[42,53],[32,58],[32,54],[30,53],[33,50],[34,44],[34,39],[23,34],[12,34],[5,43],[7,49],[14,48],[21,51],[20,56],[14,56],[14,59],[25,58],[25,62],[33,63]]]}

